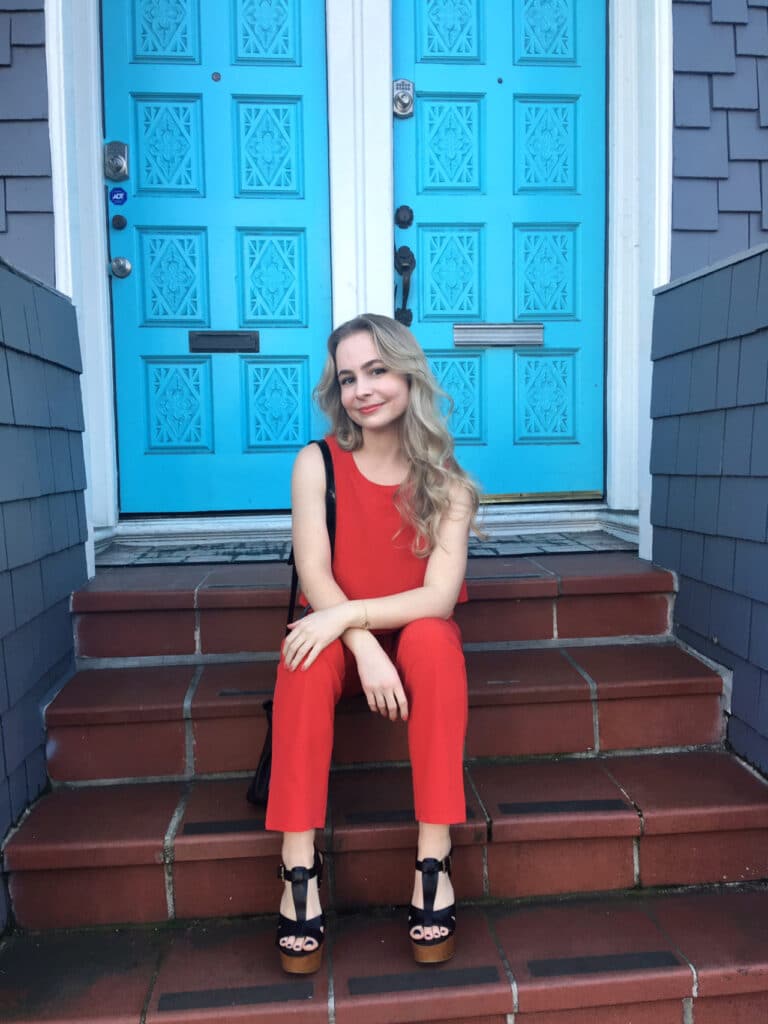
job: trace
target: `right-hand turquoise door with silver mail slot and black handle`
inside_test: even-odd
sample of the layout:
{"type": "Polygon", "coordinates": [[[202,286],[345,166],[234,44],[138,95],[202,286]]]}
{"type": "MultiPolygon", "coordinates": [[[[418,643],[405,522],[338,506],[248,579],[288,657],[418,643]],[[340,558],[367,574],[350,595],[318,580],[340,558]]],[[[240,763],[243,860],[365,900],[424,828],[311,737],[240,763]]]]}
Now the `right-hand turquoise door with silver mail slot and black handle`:
{"type": "Polygon", "coordinates": [[[492,499],[603,494],[605,27],[601,0],[394,0],[395,245],[492,499]]]}

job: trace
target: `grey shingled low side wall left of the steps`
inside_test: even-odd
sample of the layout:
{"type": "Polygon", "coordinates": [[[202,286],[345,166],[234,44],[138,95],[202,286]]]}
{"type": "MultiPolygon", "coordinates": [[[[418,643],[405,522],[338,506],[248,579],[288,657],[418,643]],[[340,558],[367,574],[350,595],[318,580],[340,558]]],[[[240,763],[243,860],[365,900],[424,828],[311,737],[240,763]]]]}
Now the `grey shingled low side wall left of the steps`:
{"type": "MultiPolygon", "coordinates": [[[[42,708],[74,672],[80,372],[70,301],[0,260],[0,840],[46,784],[42,708]]],[[[2,899],[0,932],[6,918],[2,899]]]]}

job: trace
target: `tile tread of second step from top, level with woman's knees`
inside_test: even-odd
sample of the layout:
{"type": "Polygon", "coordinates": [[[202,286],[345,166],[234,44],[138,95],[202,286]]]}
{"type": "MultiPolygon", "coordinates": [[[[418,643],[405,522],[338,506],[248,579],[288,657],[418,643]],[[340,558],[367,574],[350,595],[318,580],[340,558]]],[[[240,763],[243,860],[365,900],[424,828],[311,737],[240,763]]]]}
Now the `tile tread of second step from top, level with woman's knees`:
{"type": "MultiPolygon", "coordinates": [[[[191,718],[262,715],[274,686],[274,660],[208,664],[191,718]]],[[[46,711],[48,727],[169,721],[183,715],[196,667],[86,669],[46,711]]],[[[673,644],[611,644],[530,650],[469,650],[470,708],[498,703],[589,701],[587,676],[601,699],[719,693],[722,679],[673,644]],[[581,670],[581,671],[580,671],[581,670]]],[[[353,700],[339,712],[355,711],[353,700]]]]}

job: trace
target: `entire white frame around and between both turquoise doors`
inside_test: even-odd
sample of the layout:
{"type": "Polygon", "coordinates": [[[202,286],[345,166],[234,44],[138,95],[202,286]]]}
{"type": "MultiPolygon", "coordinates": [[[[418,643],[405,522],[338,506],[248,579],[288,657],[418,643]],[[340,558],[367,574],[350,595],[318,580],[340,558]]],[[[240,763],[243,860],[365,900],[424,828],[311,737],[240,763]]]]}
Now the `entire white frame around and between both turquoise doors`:
{"type": "MultiPolygon", "coordinates": [[[[607,500],[595,506],[494,507],[488,522],[538,530],[597,522],[650,551],[652,289],[669,281],[672,196],[672,15],[668,0],[608,0],[610,133],[607,289],[607,500]],[[650,86],[653,86],[652,88],[650,86]],[[635,513],[639,509],[639,519],[635,513]]],[[[391,3],[327,0],[333,312],[392,311],[391,3]]],[[[98,0],[46,0],[46,57],[56,287],[78,310],[93,545],[120,532],[103,177],[98,0]]],[[[257,517],[190,517],[193,532],[251,531],[257,517]]],[[[286,517],[258,517],[286,531],[286,517]]],[[[158,529],[158,523],[155,523],[158,529]]],[[[176,535],[183,524],[173,521],[176,535]]]]}

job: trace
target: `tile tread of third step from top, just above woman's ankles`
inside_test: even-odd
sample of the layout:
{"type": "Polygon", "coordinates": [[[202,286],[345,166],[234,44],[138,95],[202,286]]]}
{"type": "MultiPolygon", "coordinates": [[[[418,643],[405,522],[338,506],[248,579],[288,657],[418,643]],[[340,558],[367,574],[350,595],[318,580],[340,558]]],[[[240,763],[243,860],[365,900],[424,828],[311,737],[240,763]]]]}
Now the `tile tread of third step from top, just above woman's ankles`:
{"type": "MultiPolygon", "coordinates": [[[[591,835],[768,829],[768,784],[725,753],[473,763],[467,774],[469,817],[456,826],[458,846],[485,842],[486,815],[490,846],[591,835]]],[[[182,796],[178,859],[189,859],[182,851],[190,846],[201,859],[219,858],[222,848],[229,856],[272,852],[274,834],[263,831],[263,811],[247,803],[246,786],[246,778],[236,778],[199,779],[188,794],[181,783],[167,782],[57,788],[6,843],[6,869],[92,866],[94,858],[104,865],[159,863],[182,796]],[[189,828],[193,822],[197,831],[189,828]],[[194,841],[186,839],[193,835],[194,841]]],[[[331,849],[411,847],[415,829],[409,768],[332,774],[331,849]]],[[[768,833],[766,840],[768,850],[768,833]]]]}

